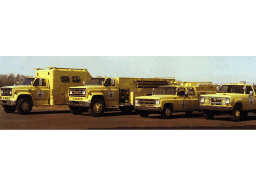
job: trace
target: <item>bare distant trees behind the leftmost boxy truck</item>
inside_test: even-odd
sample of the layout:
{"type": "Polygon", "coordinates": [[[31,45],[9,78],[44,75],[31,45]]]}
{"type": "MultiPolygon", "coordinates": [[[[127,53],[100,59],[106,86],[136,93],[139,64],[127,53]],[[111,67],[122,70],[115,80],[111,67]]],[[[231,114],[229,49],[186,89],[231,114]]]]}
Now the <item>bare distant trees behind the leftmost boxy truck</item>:
{"type": "Polygon", "coordinates": [[[17,85],[17,82],[21,82],[21,79],[26,78],[27,76],[24,75],[14,75],[13,73],[10,74],[0,74],[0,87],[2,86],[10,86],[10,85],[17,85]]]}

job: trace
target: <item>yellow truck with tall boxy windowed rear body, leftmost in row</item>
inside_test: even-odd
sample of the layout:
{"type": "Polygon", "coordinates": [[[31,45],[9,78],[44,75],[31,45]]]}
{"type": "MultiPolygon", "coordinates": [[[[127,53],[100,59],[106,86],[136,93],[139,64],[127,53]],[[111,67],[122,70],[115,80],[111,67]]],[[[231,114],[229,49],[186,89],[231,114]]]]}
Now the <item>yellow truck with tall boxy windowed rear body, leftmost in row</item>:
{"type": "Polygon", "coordinates": [[[6,113],[16,110],[28,114],[32,106],[67,104],[68,88],[88,82],[87,69],[36,68],[36,77],[25,78],[19,85],[1,87],[0,104],[6,113]]]}

